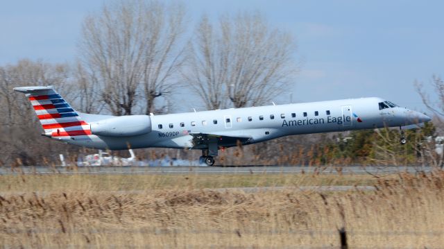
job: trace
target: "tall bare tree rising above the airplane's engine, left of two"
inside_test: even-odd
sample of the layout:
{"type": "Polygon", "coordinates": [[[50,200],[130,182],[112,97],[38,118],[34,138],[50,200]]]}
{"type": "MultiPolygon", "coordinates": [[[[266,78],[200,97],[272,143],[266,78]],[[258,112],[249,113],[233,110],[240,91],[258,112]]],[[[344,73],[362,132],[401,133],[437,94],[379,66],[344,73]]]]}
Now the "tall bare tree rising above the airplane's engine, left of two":
{"type": "Polygon", "coordinates": [[[141,96],[146,113],[154,99],[171,92],[180,67],[178,39],[184,8],[160,1],[115,1],[85,18],[80,58],[94,73],[100,95],[113,114],[132,114],[141,96]]]}

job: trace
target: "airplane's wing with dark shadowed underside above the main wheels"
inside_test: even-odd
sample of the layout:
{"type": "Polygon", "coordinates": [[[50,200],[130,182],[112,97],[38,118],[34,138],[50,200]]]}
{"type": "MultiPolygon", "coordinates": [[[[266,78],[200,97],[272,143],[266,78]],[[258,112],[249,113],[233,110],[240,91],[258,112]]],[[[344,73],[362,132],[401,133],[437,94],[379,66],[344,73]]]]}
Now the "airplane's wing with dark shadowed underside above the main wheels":
{"type": "Polygon", "coordinates": [[[223,134],[212,134],[212,133],[189,133],[193,137],[192,144],[193,148],[205,148],[209,146],[210,143],[217,143],[217,146],[221,147],[232,147],[237,146],[238,143],[249,144],[251,137],[248,136],[236,136],[236,135],[223,135],[223,134]]]}

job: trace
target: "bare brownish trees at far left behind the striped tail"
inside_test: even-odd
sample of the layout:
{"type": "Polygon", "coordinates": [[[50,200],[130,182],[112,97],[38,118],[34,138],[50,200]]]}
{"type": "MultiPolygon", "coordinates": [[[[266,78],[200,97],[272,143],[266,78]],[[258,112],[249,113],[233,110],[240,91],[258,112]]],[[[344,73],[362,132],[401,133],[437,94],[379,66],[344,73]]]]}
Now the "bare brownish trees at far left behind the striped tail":
{"type": "Polygon", "coordinates": [[[28,98],[17,94],[13,87],[53,85],[69,102],[75,95],[69,81],[69,67],[52,65],[41,60],[20,60],[17,64],[0,67],[0,164],[10,164],[20,158],[24,164],[42,162],[44,157],[57,155],[66,149],[51,146],[49,139],[40,139],[41,126],[28,98]]]}

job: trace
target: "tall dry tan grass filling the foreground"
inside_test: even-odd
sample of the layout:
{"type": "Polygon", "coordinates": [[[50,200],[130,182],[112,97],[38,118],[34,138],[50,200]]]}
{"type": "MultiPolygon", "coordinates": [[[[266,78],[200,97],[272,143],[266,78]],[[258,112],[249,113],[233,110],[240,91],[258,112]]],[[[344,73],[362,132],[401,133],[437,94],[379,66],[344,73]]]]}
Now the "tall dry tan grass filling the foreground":
{"type": "MultiPolygon", "coordinates": [[[[165,180],[162,175],[150,175],[149,179],[157,182],[153,189],[149,188],[153,183],[142,184],[139,189],[133,188],[139,191],[128,194],[96,191],[90,178],[83,175],[50,191],[51,184],[43,188],[35,185],[35,179],[50,179],[48,175],[45,177],[48,178],[37,175],[15,178],[16,183],[25,188],[24,194],[11,186],[14,180],[8,182],[6,177],[1,177],[1,245],[337,248],[340,227],[348,232],[351,248],[440,248],[444,245],[444,173],[441,171],[384,176],[373,180],[377,191],[348,192],[299,191],[295,182],[283,182],[284,188],[277,191],[254,193],[200,188],[196,182],[207,181],[199,179],[209,179],[208,175],[189,175],[182,183],[194,181],[194,185],[185,184],[182,189],[178,184],[173,188],[162,185],[160,182],[165,180]],[[28,189],[31,186],[39,192],[34,194],[28,189]]],[[[66,175],[53,177],[57,178],[52,185],[55,187],[66,175]]],[[[123,184],[125,176],[119,177],[113,179],[117,186],[131,190],[123,184]]],[[[219,178],[225,177],[228,175],[219,175],[219,178]]],[[[310,175],[305,183],[309,183],[308,177],[313,179],[311,183],[325,182],[325,179],[319,180],[322,175],[310,175]]],[[[133,184],[143,182],[135,179],[128,178],[133,184]]],[[[260,182],[262,178],[258,179],[260,182]]]]}

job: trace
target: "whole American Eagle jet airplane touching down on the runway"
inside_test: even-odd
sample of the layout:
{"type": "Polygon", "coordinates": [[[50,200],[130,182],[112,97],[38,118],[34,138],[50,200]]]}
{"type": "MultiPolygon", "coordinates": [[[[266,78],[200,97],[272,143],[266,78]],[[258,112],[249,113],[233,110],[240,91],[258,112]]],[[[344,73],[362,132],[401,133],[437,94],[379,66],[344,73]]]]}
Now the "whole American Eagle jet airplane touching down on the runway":
{"type": "Polygon", "coordinates": [[[382,98],[292,103],[162,115],[110,116],[76,112],[52,86],[15,87],[33,105],[42,135],[88,148],[189,148],[214,164],[221,148],[289,135],[400,127],[431,119],[382,98]]]}

